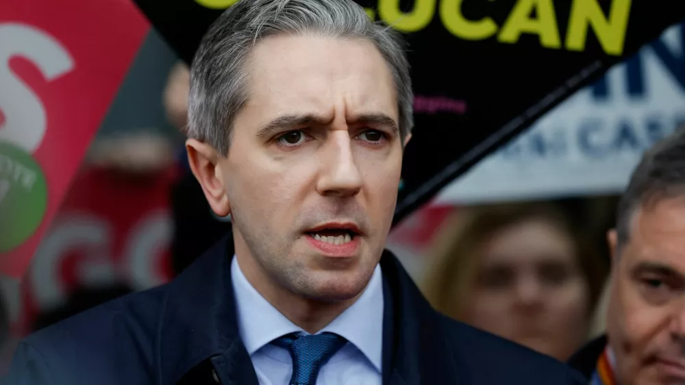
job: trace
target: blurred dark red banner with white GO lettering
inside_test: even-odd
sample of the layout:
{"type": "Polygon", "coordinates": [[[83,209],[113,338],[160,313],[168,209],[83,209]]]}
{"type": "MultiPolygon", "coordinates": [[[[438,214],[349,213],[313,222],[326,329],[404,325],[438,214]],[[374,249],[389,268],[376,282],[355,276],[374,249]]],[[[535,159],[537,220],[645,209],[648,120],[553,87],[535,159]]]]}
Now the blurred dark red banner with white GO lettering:
{"type": "Polygon", "coordinates": [[[64,305],[75,288],[169,282],[175,177],[173,166],[144,175],[79,171],[21,282],[14,334],[32,332],[36,316],[64,305]]]}

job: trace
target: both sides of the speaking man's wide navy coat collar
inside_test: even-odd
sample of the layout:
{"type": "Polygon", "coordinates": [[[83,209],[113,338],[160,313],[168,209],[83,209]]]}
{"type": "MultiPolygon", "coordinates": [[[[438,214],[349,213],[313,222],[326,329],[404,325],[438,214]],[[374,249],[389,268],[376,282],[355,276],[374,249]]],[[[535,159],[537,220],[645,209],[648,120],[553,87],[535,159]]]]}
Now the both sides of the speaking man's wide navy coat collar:
{"type": "MultiPolygon", "coordinates": [[[[163,385],[176,384],[210,358],[215,365],[236,362],[236,357],[249,360],[238,333],[232,255],[233,239],[225,236],[168,284],[155,355],[163,385]]],[[[384,384],[458,384],[453,354],[448,353],[453,347],[441,334],[440,315],[389,251],[381,258],[381,269],[384,384]]]]}

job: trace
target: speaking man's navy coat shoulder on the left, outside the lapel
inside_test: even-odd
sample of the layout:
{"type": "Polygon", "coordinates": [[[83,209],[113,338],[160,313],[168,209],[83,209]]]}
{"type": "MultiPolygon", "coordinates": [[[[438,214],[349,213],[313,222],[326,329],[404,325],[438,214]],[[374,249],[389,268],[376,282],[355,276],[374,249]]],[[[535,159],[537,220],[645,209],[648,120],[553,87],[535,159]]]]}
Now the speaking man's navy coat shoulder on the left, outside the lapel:
{"type": "Polygon", "coordinates": [[[27,378],[37,384],[42,378],[51,384],[109,384],[152,375],[167,287],[125,295],[27,336],[16,350],[9,383],[14,377],[17,384],[27,378]]]}

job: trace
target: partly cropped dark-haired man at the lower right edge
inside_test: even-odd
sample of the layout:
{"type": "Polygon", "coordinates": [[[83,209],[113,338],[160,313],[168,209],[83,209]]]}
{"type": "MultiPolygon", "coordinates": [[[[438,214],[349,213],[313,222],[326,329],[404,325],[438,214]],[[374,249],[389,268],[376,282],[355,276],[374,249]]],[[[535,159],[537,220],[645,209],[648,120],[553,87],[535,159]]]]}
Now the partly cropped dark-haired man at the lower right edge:
{"type": "Polygon", "coordinates": [[[571,365],[589,384],[685,384],[685,129],[649,149],[608,234],[607,335],[571,365]]]}

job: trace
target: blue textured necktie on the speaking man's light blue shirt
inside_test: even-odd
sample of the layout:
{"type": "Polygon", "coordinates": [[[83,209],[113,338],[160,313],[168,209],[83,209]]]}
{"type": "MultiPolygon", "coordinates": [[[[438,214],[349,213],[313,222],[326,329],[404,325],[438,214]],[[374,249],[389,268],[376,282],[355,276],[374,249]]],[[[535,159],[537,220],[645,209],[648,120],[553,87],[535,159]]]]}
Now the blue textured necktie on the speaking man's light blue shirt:
{"type": "Polygon", "coordinates": [[[316,385],[319,369],[347,343],[345,338],[333,333],[312,334],[297,337],[287,334],[273,340],[273,345],[290,351],[292,377],[290,385],[316,385]]]}

